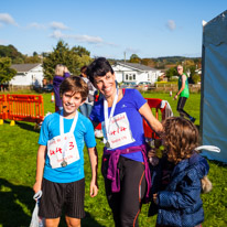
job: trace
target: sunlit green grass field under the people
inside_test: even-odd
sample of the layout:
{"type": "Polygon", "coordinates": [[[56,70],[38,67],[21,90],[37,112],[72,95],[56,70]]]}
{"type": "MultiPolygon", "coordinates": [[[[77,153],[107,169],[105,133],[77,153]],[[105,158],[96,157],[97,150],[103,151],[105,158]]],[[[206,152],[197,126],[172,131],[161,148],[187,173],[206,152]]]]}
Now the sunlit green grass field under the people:
{"type": "MultiPolygon", "coordinates": [[[[170,102],[175,116],[176,101],[169,94],[142,94],[144,97],[161,98],[170,102]]],[[[43,94],[44,111],[53,112],[54,104],[51,102],[51,94],[43,94]]],[[[199,126],[199,94],[192,94],[186,102],[185,110],[196,118],[195,125],[199,126]]],[[[34,123],[17,122],[10,126],[4,121],[0,126],[0,227],[28,227],[34,208],[32,186],[35,180],[36,151],[39,130],[34,130],[34,123]]],[[[82,225],[86,227],[114,226],[110,208],[107,204],[104,181],[100,174],[100,158],[102,142],[97,139],[99,153],[99,193],[95,198],[89,197],[90,167],[87,150],[85,149],[86,174],[86,218],[82,225]]],[[[205,209],[205,223],[203,227],[227,226],[227,165],[209,161],[209,179],[214,188],[209,194],[202,195],[205,209]]],[[[149,205],[142,207],[139,217],[140,226],[154,226],[155,217],[148,217],[149,205]]],[[[64,218],[61,226],[66,226],[64,218]]]]}

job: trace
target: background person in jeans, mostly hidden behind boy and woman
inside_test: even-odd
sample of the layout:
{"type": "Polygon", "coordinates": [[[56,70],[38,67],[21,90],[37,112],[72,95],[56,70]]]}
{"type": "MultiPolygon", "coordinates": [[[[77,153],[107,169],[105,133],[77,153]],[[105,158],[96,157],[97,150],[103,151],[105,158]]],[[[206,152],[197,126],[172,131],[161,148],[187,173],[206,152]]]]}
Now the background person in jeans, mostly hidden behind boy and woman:
{"type": "Polygon", "coordinates": [[[85,100],[85,102],[79,107],[79,110],[80,110],[82,115],[84,115],[85,117],[88,118],[90,112],[91,112],[93,105],[94,105],[94,101],[95,101],[96,88],[93,86],[90,80],[87,78],[87,66],[86,65],[80,68],[80,77],[87,84],[89,93],[88,93],[88,97],[85,100]]]}

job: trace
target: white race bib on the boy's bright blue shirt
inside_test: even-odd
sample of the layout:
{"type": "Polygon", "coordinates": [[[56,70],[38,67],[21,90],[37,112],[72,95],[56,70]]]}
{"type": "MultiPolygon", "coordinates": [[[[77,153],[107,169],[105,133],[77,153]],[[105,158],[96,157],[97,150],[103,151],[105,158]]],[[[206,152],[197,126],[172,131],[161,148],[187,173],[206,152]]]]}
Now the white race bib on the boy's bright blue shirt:
{"type": "Polygon", "coordinates": [[[78,161],[79,152],[74,134],[68,132],[48,140],[47,155],[52,169],[62,167],[63,161],[67,164],[78,161]]]}

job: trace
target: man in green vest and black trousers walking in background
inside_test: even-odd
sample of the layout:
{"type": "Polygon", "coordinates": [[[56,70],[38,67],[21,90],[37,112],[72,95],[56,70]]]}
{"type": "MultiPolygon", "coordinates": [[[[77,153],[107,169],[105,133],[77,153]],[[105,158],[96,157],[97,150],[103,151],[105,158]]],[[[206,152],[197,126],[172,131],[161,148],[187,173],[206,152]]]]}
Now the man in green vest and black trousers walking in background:
{"type": "Polygon", "coordinates": [[[176,100],[179,98],[177,102],[177,111],[180,112],[181,117],[187,117],[193,123],[195,122],[195,118],[190,116],[185,110],[184,106],[186,104],[187,98],[190,97],[190,88],[188,88],[188,79],[187,75],[183,72],[183,66],[177,65],[177,73],[179,73],[179,91],[174,96],[174,99],[176,100]]]}

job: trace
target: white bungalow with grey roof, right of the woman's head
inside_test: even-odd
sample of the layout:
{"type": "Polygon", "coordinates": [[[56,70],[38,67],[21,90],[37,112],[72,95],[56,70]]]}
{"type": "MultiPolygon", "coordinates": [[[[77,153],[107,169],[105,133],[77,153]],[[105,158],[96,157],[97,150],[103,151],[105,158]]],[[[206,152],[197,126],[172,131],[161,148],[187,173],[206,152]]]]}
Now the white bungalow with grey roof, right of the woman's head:
{"type": "Polygon", "coordinates": [[[159,69],[137,63],[117,62],[112,65],[112,69],[118,83],[134,82],[138,84],[140,82],[151,82],[151,84],[154,84],[158,77],[162,75],[159,69]]]}

